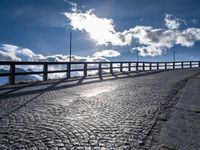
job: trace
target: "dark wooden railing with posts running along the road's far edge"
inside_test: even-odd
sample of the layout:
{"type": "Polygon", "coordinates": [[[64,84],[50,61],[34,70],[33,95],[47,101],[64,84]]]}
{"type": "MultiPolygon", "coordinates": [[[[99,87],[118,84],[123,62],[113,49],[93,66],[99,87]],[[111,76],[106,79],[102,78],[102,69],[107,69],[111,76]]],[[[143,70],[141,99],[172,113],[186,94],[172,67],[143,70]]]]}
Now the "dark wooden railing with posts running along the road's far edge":
{"type": "Polygon", "coordinates": [[[48,80],[50,73],[66,73],[66,78],[71,77],[71,72],[81,71],[83,76],[87,76],[88,71],[97,70],[101,77],[103,70],[109,70],[113,73],[118,69],[119,72],[124,71],[146,71],[146,70],[166,70],[166,69],[182,69],[200,67],[200,61],[181,61],[181,62],[8,62],[0,61],[2,65],[9,66],[8,72],[0,72],[0,77],[9,77],[9,84],[15,84],[15,77],[20,75],[42,74],[43,80],[48,80]],[[16,66],[26,65],[42,65],[41,71],[17,72],[16,66]],[[66,65],[64,70],[49,70],[49,65],[66,65]],[[73,68],[72,66],[80,66],[82,68],[73,68]]]}

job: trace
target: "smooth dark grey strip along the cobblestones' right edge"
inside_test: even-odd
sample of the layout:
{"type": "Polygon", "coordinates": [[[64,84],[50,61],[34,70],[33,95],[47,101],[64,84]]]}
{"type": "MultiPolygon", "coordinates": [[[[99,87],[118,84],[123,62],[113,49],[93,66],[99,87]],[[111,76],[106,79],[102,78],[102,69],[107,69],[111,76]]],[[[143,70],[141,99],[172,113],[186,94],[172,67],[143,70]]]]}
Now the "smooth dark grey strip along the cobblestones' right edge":
{"type": "Polygon", "coordinates": [[[200,149],[200,75],[189,80],[160,133],[161,150],[200,149]]]}

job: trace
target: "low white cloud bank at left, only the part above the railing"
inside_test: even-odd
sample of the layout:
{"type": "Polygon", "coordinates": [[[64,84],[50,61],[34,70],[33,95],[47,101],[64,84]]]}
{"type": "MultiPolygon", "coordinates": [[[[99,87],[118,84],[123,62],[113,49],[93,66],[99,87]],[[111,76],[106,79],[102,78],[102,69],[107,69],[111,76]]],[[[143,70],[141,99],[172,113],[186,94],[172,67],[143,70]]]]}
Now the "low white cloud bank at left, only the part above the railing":
{"type": "MultiPolygon", "coordinates": [[[[110,56],[111,56],[111,53],[117,53],[117,51],[111,51],[110,56]]],[[[42,54],[36,54],[28,48],[22,48],[22,47],[11,45],[11,44],[3,44],[0,46],[0,60],[1,61],[68,62],[69,55],[56,54],[56,55],[44,56],[42,54]]],[[[76,62],[109,61],[108,59],[103,58],[103,56],[98,56],[97,58],[97,56],[81,57],[81,56],[75,56],[75,55],[72,55],[71,60],[76,61],[76,62]]]]}

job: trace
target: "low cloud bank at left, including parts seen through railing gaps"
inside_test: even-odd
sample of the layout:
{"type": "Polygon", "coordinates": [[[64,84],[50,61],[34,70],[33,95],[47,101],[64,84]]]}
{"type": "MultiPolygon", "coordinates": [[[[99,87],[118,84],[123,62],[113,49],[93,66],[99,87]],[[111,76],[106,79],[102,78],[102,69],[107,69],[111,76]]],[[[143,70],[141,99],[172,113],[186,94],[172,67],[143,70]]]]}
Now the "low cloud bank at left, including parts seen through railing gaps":
{"type": "MultiPolygon", "coordinates": [[[[110,57],[111,54],[114,55],[114,53],[117,53],[116,51],[110,52],[110,57]]],[[[36,54],[32,50],[28,48],[22,48],[16,45],[11,45],[11,44],[3,44],[0,46],[0,60],[1,61],[34,61],[34,62],[68,62],[69,61],[69,55],[61,55],[61,54],[56,54],[56,55],[49,55],[49,56],[44,56],[42,54],[36,54]]],[[[87,57],[81,57],[81,56],[75,56],[72,55],[71,60],[74,62],[108,62],[109,60],[104,58],[104,56],[87,56],[87,57]]],[[[79,66],[73,66],[75,68],[78,68],[79,66]]],[[[88,67],[93,67],[93,65],[89,65],[88,67]]],[[[1,69],[3,70],[8,70],[9,67],[7,66],[0,66],[0,71],[1,69]]],[[[37,65],[25,65],[25,66],[17,66],[17,70],[24,70],[24,71],[40,71],[42,70],[42,66],[37,66],[37,65]]],[[[65,65],[49,65],[48,66],[49,70],[64,70],[66,69],[65,65]]],[[[91,74],[96,74],[97,71],[93,71],[91,74]]],[[[74,75],[82,75],[82,72],[74,72],[74,75]]],[[[63,78],[66,76],[66,73],[53,73],[49,74],[48,77],[49,79],[55,79],[55,78],[63,78]]],[[[42,80],[42,76],[40,75],[28,75],[28,76],[23,76],[17,77],[16,80],[18,81],[24,81],[24,80],[42,80]]],[[[0,80],[0,84],[1,84],[0,80]]]]}

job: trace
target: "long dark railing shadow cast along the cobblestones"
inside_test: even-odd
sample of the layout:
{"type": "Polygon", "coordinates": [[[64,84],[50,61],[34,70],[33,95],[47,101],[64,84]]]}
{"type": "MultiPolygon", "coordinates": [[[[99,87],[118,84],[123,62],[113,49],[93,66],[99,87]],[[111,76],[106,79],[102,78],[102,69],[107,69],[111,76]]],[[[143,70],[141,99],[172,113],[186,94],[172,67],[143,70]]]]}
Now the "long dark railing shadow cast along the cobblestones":
{"type": "Polygon", "coordinates": [[[99,76],[83,76],[71,79],[57,79],[48,80],[45,82],[34,82],[27,84],[17,84],[0,87],[0,99],[2,98],[15,98],[19,96],[26,96],[30,94],[44,94],[48,91],[56,91],[60,89],[70,88],[78,85],[91,84],[96,82],[103,82],[109,80],[117,80],[124,78],[133,78],[139,76],[145,76],[155,73],[160,73],[167,70],[156,70],[156,71],[141,71],[141,72],[121,72],[104,74],[102,77],[99,76]],[[34,88],[35,87],[35,88],[34,88]]]}

